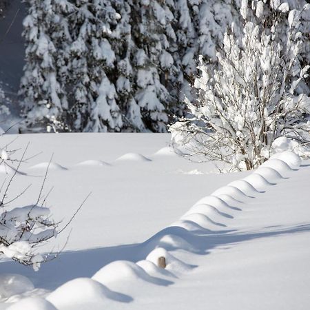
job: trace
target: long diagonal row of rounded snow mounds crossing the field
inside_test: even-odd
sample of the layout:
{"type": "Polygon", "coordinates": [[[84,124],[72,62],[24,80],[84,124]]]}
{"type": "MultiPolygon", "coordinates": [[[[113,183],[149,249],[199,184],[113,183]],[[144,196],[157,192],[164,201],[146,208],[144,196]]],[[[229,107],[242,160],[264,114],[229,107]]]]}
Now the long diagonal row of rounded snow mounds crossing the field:
{"type": "MultiPolygon", "coordinates": [[[[234,218],[231,214],[242,213],[249,199],[256,197],[259,200],[262,193],[271,190],[271,185],[281,179],[286,182],[283,178],[293,178],[294,170],[299,169],[300,163],[300,157],[293,152],[275,154],[246,178],[229,183],[198,200],[179,220],[143,242],[139,251],[145,257],[144,260],[111,262],[97,271],[92,278],[76,278],[52,291],[46,298],[25,298],[8,309],[85,309],[90,304],[94,309],[101,309],[105,304],[109,304],[109,300],[114,300],[116,307],[121,307],[120,304],[117,306],[117,303],[125,305],[133,300],[131,296],[118,290],[126,291],[125,287],[136,287],[140,290],[147,283],[152,283],[155,287],[165,287],[182,281],[185,276],[188,278],[194,269],[190,259],[196,254],[208,254],[203,249],[209,239],[213,238],[209,229],[220,229],[221,221],[227,217],[231,218],[230,223],[233,225],[234,218]],[[186,262],[176,258],[175,249],[188,253],[186,262]],[[167,264],[165,269],[158,267],[158,258],[162,257],[167,264]]],[[[227,229],[229,231],[229,227],[227,229]]],[[[30,290],[33,289],[31,283],[22,276],[15,280],[30,290]]],[[[19,285],[16,287],[17,290],[20,289],[19,285]]],[[[7,291],[10,291],[8,288],[7,291]]],[[[14,294],[14,291],[11,293],[14,294]]]]}

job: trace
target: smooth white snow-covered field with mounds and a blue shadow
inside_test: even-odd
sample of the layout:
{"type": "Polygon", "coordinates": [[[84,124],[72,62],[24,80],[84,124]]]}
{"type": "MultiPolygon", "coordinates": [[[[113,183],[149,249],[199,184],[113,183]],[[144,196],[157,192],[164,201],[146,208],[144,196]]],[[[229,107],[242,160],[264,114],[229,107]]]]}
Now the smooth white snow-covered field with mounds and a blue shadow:
{"type": "Polygon", "coordinates": [[[1,260],[0,309],[309,309],[309,162],[285,154],[254,174],[218,174],[174,154],[167,134],[23,135],[10,146],[28,141],[38,155],[10,195],[32,187],[12,207],[37,200],[52,153],[44,192],[54,186],[56,220],[92,195],[44,248],[61,249],[72,229],[58,258],[37,272],[1,260]]]}

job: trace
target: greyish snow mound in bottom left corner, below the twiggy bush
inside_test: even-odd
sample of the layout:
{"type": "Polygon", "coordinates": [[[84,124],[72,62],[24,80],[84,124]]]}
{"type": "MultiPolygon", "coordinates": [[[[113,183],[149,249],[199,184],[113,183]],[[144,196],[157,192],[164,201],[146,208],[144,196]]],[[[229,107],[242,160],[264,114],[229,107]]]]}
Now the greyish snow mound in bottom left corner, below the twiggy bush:
{"type": "Polygon", "coordinates": [[[14,273],[0,274],[0,300],[5,300],[14,295],[32,291],[34,285],[25,276],[14,273]]]}

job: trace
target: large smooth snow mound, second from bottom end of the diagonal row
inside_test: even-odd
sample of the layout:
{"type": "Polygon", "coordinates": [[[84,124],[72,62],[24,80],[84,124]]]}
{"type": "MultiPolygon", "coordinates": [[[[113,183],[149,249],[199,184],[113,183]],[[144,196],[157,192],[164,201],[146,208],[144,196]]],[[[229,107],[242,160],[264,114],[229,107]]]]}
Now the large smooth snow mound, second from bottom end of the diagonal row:
{"type": "Polygon", "coordinates": [[[84,304],[87,301],[99,303],[107,299],[120,302],[131,300],[129,296],[110,291],[101,283],[90,278],[76,278],[68,281],[50,293],[46,299],[59,309],[68,306],[74,309],[74,304],[84,304]]]}

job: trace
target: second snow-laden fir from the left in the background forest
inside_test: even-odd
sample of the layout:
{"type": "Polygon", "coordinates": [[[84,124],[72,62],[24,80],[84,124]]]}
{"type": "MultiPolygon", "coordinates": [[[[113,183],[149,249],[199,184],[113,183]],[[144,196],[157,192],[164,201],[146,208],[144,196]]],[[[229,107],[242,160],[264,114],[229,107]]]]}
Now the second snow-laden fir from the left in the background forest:
{"type": "Polygon", "coordinates": [[[68,123],[74,131],[120,131],[121,111],[109,73],[115,70],[110,41],[112,26],[120,18],[111,1],[76,1],[68,17],[72,45],[68,52],[67,87],[70,94],[68,123]]]}

